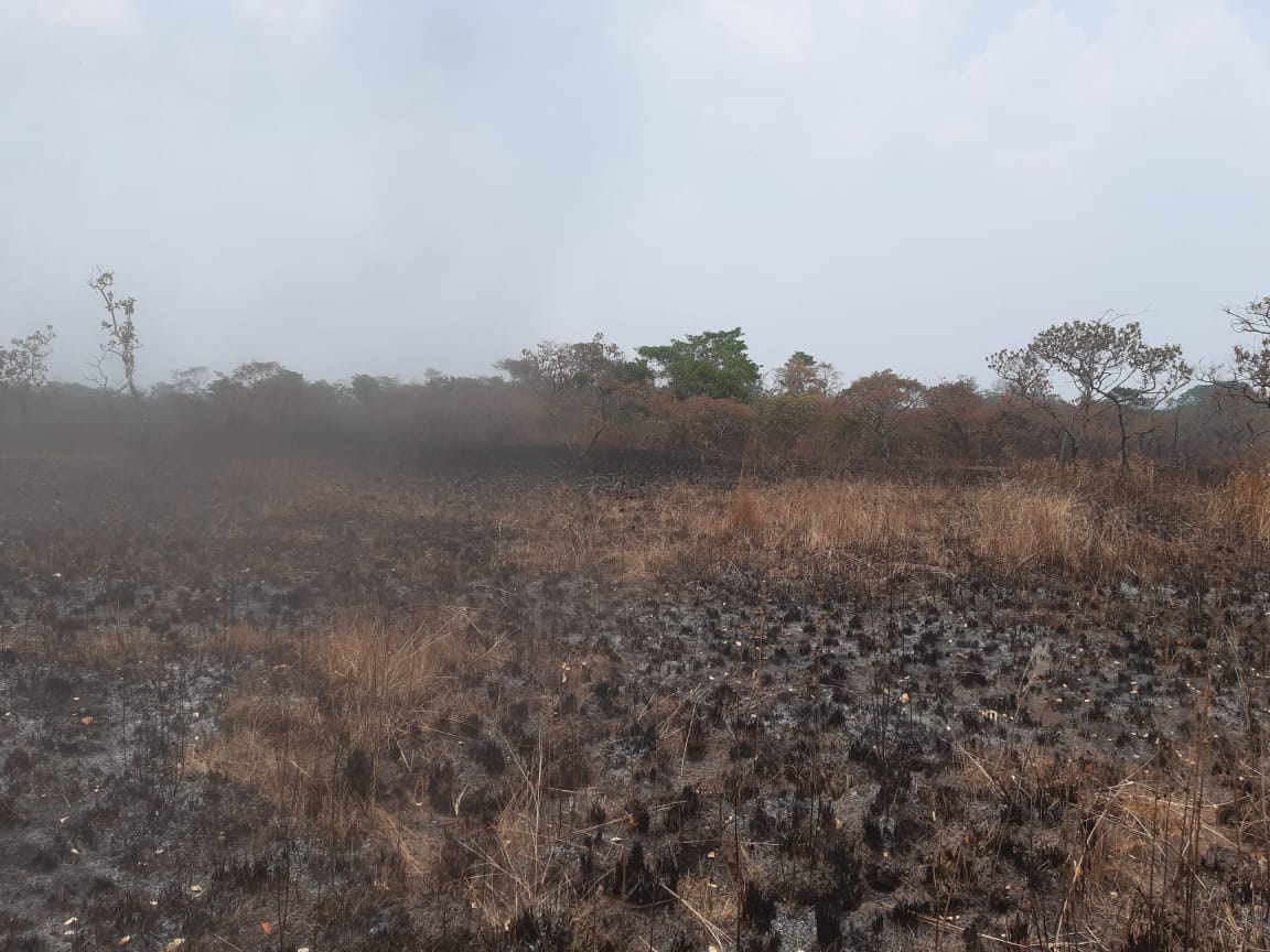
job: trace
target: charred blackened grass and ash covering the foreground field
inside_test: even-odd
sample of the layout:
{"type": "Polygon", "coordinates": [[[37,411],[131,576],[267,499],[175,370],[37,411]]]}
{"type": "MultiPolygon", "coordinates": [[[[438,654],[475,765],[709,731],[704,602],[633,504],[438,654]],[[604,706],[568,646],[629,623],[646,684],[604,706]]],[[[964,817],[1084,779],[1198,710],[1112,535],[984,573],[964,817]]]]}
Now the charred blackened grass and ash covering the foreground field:
{"type": "Polygon", "coordinates": [[[618,580],[489,515],[683,480],[732,485],[0,459],[0,951],[1266,947],[1256,565],[618,580]],[[331,751],[338,830],[199,767],[243,698],[320,703],[331,626],[423,605],[497,664],[331,751]]]}

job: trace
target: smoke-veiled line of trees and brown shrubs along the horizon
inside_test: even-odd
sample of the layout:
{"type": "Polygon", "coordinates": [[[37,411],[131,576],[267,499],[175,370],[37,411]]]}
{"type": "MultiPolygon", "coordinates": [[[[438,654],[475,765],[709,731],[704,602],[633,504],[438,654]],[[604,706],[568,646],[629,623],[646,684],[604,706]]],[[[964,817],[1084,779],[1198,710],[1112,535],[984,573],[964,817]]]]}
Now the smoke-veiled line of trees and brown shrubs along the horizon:
{"type": "Polygon", "coordinates": [[[117,294],[109,272],[89,288],[103,315],[89,383],[48,378],[51,326],[0,348],[5,447],[618,452],[833,472],[1044,458],[1228,465],[1257,453],[1270,432],[1270,298],[1228,311],[1237,343],[1220,369],[1196,369],[1176,345],[1148,343],[1137,321],[1109,312],[986,355],[992,388],[890,368],[845,382],[801,350],[765,376],[740,327],[634,353],[601,334],[546,341],[488,377],[307,381],[253,360],[225,372],[190,367],[146,388],[136,300],[117,294]]]}

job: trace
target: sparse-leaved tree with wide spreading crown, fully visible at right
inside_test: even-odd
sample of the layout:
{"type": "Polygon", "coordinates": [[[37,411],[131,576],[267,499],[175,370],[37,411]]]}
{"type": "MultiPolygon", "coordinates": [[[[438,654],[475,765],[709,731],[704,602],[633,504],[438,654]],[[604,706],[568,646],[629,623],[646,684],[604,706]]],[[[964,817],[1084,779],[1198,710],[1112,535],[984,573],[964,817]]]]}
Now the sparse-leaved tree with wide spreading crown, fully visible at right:
{"type": "Polygon", "coordinates": [[[1119,319],[1109,311],[1095,321],[1057,324],[1021,350],[993,354],[988,366],[1010,392],[1043,409],[1059,425],[1073,456],[1090,424],[1110,413],[1120,437],[1120,466],[1128,470],[1129,440],[1154,429],[1154,410],[1186,386],[1194,369],[1182,359],[1180,347],[1149,347],[1137,321],[1118,324],[1119,319]],[[1074,401],[1054,396],[1055,374],[1074,387],[1074,401]],[[1134,429],[1135,420],[1142,420],[1140,429],[1134,429]]]}

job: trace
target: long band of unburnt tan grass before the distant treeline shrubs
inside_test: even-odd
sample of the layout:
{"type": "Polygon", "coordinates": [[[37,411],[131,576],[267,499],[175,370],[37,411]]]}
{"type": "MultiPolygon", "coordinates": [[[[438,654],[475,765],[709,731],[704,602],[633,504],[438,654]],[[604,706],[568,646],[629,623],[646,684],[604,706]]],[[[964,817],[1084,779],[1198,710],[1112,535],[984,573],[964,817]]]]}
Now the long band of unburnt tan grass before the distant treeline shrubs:
{"type": "MultiPolygon", "coordinates": [[[[278,465],[244,477],[241,543],[281,550],[296,533],[330,527],[312,547],[356,542],[382,526],[462,522],[491,533],[508,567],[551,574],[607,571],[624,580],[700,578],[728,562],[775,575],[839,575],[888,564],[1011,578],[1057,571],[1105,583],[1158,581],[1213,543],[1270,541],[1270,470],[1201,486],[1151,466],[1033,463],[983,484],[881,479],[786,480],[734,489],[674,484],[621,498],[585,481],[494,487],[479,509],[438,484],[367,484],[339,472],[278,465]]],[[[409,553],[403,553],[408,556],[409,553]]],[[[422,559],[420,556],[417,556],[422,559]]],[[[427,570],[427,561],[420,562],[427,570]]]]}

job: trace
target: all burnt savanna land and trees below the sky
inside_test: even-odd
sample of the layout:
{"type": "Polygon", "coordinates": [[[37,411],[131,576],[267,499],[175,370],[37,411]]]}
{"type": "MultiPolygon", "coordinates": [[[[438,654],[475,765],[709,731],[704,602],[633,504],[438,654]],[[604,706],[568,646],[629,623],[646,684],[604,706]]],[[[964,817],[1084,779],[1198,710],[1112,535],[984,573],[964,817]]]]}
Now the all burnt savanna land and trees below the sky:
{"type": "Polygon", "coordinates": [[[1267,947],[1266,302],[146,390],[91,291],[0,350],[0,949],[1267,947]]]}

